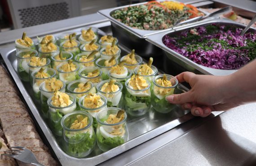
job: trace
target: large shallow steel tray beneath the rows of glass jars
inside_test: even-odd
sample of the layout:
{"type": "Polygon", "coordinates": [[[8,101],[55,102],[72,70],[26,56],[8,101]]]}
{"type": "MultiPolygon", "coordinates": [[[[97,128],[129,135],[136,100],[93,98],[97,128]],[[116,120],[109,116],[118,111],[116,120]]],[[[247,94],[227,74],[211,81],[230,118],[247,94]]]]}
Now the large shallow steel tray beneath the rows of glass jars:
{"type": "MultiPolygon", "coordinates": [[[[72,32],[79,32],[80,29],[76,29],[72,32]]],[[[101,34],[101,32],[100,32],[101,34]]],[[[53,34],[57,35],[57,34],[53,34]]],[[[103,34],[102,34],[103,35],[103,34]]],[[[122,55],[130,52],[128,48],[126,48],[121,43],[119,44],[120,48],[122,48],[122,55]]],[[[24,97],[26,104],[28,105],[31,114],[34,116],[35,120],[39,124],[39,127],[43,134],[45,135],[47,141],[53,149],[53,153],[56,154],[59,162],[64,166],[76,165],[82,166],[86,165],[96,165],[101,162],[104,162],[111,157],[115,157],[116,155],[127,151],[147,140],[150,140],[166,131],[177,127],[181,123],[187,122],[190,119],[194,118],[189,111],[183,111],[179,107],[176,107],[171,113],[168,114],[160,114],[156,111],[150,109],[149,113],[141,116],[141,117],[130,117],[128,116],[127,126],[129,132],[129,140],[128,142],[116,147],[115,149],[111,149],[105,153],[100,151],[97,147],[94,149],[93,153],[90,154],[86,158],[75,158],[67,155],[60,148],[56,138],[53,136],[53,133],[50,131],[47,124],[44,122],[43,118],[40,116],[39,104],[34,100],[32,96],[32,88],[29,83],[23,83],[17,74],[17,60],[15,57],[15,49],[14,44],[10,45],[9,48],[0,49],[0,54],[2,55],[4,62],[9,70],[9,73],[13,77],[15,83],[18,86],[22,96],[24,97]]],[[[170,73],[171,74],[171,73],[170,73]]],[[[182,92],[187,91],[188,89],[183,85],[178,85],[179,90],[182,92]]]]}

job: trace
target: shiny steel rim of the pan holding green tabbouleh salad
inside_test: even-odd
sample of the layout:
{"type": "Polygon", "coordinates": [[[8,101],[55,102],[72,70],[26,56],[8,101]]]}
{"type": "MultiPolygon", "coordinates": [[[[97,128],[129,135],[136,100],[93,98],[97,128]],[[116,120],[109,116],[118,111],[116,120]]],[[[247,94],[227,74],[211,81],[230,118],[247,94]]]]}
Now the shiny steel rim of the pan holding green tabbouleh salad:
{"type": "MultiPolygon", "coordinates": [[[[158,0],[159,2],[162,2],[162,1],[166,1],[166,0],[158,0]]],[[[170,0],[170,1],[175,1],[177,2],[176,0],[170,0]]],[[[118,26],[124,28],[126,31],[132,33],[133,35],[136,35],[137,37],[139,38],[146,38],[148,35],[153,35],[153,34],[156,34],[156,33],[159,33],[159,32],[163,32],[163,31],[169,31],[169,30],[172,30],[172,29],[177,29],[179,27],[185,27],[187,25],[181,25],[181,26],[173,26],[171,28],[168,28],[168,29],[165,29],[165,30],[157,30],[157,31],[150,31],[150,30],[139,30],[139,29],[135,29],[135,28],[132,28],[130,26],[127,26],[125,25],[124,23],[122,22],[119,22],[118,20],[116,20],[115,18],[113,18],[111,16],[111,13],[113,13],[115,10],[117,9],[123,9],[123,8],[126,8],[126,7],[129,7],[129,6],[137,6],[137,5],[141,5],[141,4],[146,4],[147,2],[142,2],[142,3],[138,3],[138,4],[131,4],[131,5],[125,5],[125,6],[120,6],[120,7],[117,7],[117,8],[110,8],[110,9],[103,9],[103,10],[99,10],[98,13],[102,14],[103,16],[107,17],[108,19],[110,19],[111,23],[115,23],[117,24],[118,26]]],[[[204,13],[205,15],[208,15],[209,13],[207,12],[204,12],[202,10],[199,10],[200,12],[204,13]]],[[[210,18],[212,19],[212,18],[210,18]]],[[[202,22],[202,21],[200,21],[202,22]]]]}

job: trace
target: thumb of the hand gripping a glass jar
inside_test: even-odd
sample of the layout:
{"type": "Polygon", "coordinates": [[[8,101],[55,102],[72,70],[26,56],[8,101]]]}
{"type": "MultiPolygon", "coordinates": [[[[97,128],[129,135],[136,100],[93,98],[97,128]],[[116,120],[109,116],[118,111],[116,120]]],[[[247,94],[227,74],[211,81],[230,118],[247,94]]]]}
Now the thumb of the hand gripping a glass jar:
{"type": "Polygon", "coordinates": [[[170,103],[177,104],[177,105],[193,102],[191,92],[185,92],[181,94],[166,96],[165,99],[170,103]]]}

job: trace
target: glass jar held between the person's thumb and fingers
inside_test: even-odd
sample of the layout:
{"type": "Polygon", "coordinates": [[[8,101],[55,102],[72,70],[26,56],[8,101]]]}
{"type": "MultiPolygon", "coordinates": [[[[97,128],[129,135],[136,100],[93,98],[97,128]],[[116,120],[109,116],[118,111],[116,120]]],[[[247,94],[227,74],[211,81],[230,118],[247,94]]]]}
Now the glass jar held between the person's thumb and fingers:
{"type": "Polygon", "coordinates": [[[176,107],[176,105],[169,103],[165,100],[166,96],[175,94],[175,89],[178,85],[178,80],[172,76],[165,74],[167,80],[172,83],[170,87],[163,87],[156,83],[157,79],[163,79],[163,74],[160,74],[153,79],[153,88],[151,90],[151,105],[153,108],[160,113],[168,113],[176,107]],[[162,92],[162,94],[160,93],[162,92]]]}

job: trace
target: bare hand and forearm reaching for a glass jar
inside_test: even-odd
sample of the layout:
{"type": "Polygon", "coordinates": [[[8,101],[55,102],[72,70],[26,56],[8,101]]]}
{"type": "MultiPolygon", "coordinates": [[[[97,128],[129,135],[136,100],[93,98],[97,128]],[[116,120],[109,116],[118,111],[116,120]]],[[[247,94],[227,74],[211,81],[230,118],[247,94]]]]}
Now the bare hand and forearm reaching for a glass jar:
{"type": "Polygon", "coordinates": [[[166,100],[191,109],[195,116],[206,117],[211,111],[229,110],[256,101],[256,61],[228,76],[184,72],[177,79],[189,83],[190,91],[167,96],[166,100]]]}

